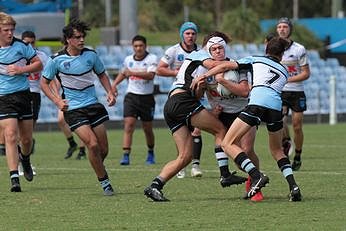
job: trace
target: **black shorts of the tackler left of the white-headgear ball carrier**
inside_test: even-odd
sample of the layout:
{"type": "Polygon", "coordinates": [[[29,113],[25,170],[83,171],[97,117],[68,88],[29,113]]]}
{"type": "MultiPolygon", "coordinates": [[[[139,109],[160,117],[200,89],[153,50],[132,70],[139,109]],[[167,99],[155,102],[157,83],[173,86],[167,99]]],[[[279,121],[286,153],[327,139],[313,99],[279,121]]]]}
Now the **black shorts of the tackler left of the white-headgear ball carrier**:
{"type": "Polygon", "coordinates": [[[204,106],[200,101],[189,92],[181,92],[168,98],[164,107],[164,116],[172,133],[182,126],[187,126],[193,131],[191,116],[203,109],[204,106]]]}

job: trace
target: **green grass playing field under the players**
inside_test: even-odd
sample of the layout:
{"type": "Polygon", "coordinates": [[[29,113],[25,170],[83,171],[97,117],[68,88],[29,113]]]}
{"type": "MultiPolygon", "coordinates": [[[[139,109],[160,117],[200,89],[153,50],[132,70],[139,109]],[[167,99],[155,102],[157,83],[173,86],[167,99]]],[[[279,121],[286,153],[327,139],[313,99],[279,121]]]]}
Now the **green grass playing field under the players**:
{"type": "MultiPolygon", "coordinates": [[[[87,160],[64,160],[60,132],[38,132],[32,156],[38,175],[21,178],[22,193],[9,192],[6,159],[0,157],[0,230],[346,230],[346,124],[305,125],[303,165],[295,174],[303,201],[288,202],[288,187],[267,148],[261,126],[256,151],[270,177],[259,203],[241,199],[244,185],[221,188],[212,137],[203,134],[200,179],[172,179],[168,203],[143,195],[161,167],[176,156],[170,132],[155,129],[157,164],[146,166],[143,132],[134,137],[131,165],[120,166],[121,130],[109,131],[106,166],[116,195],[104,197],[87,160]]],[[[231,163],[234,169],[234,164],[231,163]]],[[[189,171],[188,171],[189,173],[189,171]]]]}

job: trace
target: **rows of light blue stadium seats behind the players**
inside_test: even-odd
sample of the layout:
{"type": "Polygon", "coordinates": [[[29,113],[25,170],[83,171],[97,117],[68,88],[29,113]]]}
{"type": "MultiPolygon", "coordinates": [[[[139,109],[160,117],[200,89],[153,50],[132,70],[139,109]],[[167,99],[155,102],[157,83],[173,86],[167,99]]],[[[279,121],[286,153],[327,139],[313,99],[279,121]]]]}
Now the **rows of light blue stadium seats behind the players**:
{"type": "MultiPolygon", "coordinates": [[[[51,53],[49,47],[39,48],[44,50],[48,54],[51,53]]],[[[110,73],[116,73],[121,67],[124,58],[132,53],[132,47],[129,46],[104,46],[99,45],[95,47],[95,50],[100,55],[104,62],[106,69],[110,73]]],[[[165,47],[161,46],[149,46],[148,50],[158,57],[163,56],[165,47]]],[[[228,46],[226,54],[228,57],[238,59],[248,55],[261,55],[263,54],[263,46],[254,43],[249,44],[233,44],[228,46]]],[[[307,96],[307,111],[306,115],[328,115],[330,112],[330,77],[336,77],[336,112],[338,114],[346,113],[346,67],[339,64],[336,58],[322,59],[316,50],[308,51],[311,75],[310,78],[304,82],[305,93],[307,96]]],[[[155,95],[156,108],[155,119],[163,119],[163,105],[167,99],[167,92],[172,85],[173,79],[161,76],[156,76],[154,83],[157,86],[155,95]]],[[[95,82],[97,94],[102,103],[106,105],[106,95],[100,83],[95,82]]],[[[110,119],[113,121],[122,120],[123,112],[123,99],[127,82],[123,81],[118,86],[119,96],[117,103],[114,107],[106,107],[110,119]]],[[[46,99],[46,96],[42,94],[42,106],[38,123],[57,122],[57,110],[55,105],[46,99]]]]}

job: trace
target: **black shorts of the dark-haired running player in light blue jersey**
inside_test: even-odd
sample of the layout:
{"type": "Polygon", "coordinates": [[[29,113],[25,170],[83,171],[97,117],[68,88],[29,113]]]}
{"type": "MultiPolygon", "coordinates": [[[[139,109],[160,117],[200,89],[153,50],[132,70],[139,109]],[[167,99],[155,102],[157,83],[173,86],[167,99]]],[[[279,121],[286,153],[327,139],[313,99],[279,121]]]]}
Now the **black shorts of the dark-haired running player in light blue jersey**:
{"type": "Polygon", "coordinates": [[[66,111],[64,118],[71,131],[83,125],[90,125],[93,128],[109,120],[106,108],[100,103],[66,111]]]}

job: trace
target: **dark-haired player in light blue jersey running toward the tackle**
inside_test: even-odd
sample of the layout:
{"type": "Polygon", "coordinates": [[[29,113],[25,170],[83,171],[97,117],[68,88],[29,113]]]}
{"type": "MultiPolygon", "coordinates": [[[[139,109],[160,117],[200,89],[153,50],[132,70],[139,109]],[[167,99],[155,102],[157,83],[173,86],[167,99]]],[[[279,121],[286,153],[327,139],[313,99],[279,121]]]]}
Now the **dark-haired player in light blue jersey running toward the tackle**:
{"type": "Polygon", "coordinates": [[[115,104],[105,67],[94,50],[84,47],[89,26],[72,20],[63,28],[64,49],[54,55],[42,73],[41,88],[59,110],[64,112],[66,123],[88,149],[88,159],[101,184],[105,196],[114,194],[104,160],[108,154],[108,138],[104,122],[109,119],[107,110],[98,102],[94,86],[95,74],[107,92],[108,106],[115,104]],[[50,86],[57,77],[62,95],[50,86]]]}

